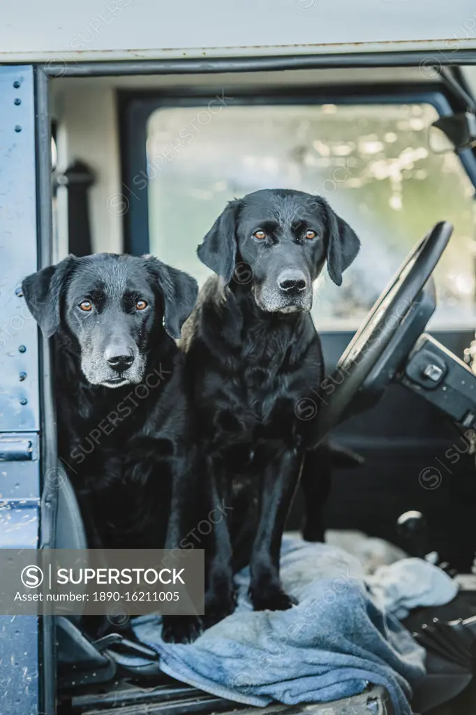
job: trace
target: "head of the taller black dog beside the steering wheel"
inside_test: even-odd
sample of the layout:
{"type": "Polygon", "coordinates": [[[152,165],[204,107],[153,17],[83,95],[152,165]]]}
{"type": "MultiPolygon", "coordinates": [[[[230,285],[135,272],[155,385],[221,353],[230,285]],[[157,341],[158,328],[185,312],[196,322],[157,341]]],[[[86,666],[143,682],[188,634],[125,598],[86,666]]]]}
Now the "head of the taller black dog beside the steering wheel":
{"type": "Polygon", "coordinates": [[[309,312],[313,282],[326,260],[330,277],[340,285],[359,247],[354,231],[324,199],[269,189],[228,204],[198,255],[226,283],[235,265],[249,264],[254,300],[262,310],[309,312]]]}

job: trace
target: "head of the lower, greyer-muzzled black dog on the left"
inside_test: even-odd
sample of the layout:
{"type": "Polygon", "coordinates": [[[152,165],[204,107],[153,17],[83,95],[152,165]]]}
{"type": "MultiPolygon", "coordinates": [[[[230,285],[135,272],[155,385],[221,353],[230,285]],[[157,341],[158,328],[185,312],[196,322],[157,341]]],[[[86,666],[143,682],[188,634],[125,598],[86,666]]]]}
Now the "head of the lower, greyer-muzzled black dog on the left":
{"type": "Polygon", "coordinates": [[[197,298],[192,277],[156,258],[106,253],[68,257],[23,289],[44,334],[65,332],[88,382],[107,388],[140,383],[162,322],[180,337],[197,298]]]}

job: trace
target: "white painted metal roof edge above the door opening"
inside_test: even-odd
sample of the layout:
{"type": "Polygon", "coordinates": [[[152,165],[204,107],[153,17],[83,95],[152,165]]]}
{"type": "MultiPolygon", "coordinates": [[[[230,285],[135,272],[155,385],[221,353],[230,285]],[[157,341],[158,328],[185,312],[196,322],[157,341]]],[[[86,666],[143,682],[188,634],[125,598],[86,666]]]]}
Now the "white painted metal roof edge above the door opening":
{"type": "Polygon", "coordinates": [[[0,62],[463,47],[476,47],[474,0],[0,1],[0,62]]]}

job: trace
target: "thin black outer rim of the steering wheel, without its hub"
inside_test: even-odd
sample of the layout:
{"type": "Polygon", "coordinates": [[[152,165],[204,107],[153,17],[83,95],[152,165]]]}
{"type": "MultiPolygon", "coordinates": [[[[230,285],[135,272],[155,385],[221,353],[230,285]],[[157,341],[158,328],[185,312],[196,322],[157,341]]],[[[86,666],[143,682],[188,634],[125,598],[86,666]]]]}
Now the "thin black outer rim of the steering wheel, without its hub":
{"type": "Polygon", "coordinates": [[[319,442],[342,420],[345,410],[414,307],[447,247],[452,230],[450,223],[439,222],[418,242],[370,309],[334,372],[319,385],[323,388],[326,383],[326,390],[332,388],[326,393],[327,399],[322,389],[319,390],[322,400],[317,414],[319,442]]]}

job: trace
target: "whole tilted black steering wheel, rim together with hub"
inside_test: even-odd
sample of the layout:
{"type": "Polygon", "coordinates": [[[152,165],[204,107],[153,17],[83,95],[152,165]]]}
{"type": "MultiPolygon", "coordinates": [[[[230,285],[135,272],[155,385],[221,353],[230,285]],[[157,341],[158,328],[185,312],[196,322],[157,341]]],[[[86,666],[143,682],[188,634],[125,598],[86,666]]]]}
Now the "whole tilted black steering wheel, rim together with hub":
{"type": "Polygon", "coordinates": [[[334,372],[319,386],[319,442],[344,418],[380,399],[415,345],[436,307],[435,285],[429,279],[452,230],[447,222],[437,223],[417,244],[371,308],[334,372]]]}

